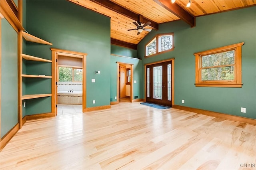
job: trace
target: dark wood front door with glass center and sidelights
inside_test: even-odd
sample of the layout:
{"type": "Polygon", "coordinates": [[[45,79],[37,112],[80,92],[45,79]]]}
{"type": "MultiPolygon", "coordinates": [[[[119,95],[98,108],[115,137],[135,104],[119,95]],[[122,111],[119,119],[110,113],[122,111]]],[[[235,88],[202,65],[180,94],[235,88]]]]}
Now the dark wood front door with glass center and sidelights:
{"type": "Polygon", "coordinates": [[[172,61],[146,66],[146,102],[172,106],[172,61]]]}

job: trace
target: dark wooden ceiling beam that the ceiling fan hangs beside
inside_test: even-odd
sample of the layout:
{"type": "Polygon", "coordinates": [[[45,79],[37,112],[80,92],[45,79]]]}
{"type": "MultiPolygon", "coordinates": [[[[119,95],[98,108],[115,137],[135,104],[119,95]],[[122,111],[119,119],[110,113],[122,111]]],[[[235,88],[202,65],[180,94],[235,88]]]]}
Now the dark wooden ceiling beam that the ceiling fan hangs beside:
{"type": "Polygon", "coordinates": [[[101,6],[104,6],[108,9],[110,9],[110,10],[113,10],[113,11],[119,13],[119,14],[122,14],[122,15],[128,17],[128,18],[131,18],[134,21],[137,21],[137,22],[141,21],[144,24],[146,24],[148,21],[150,21],[151,22],[150,26],[152,28],[158,30],[158,23],[156,23],[154,21],[151,21],[151,20],[148,20],[147,18],[144,18],[144,17],[140,18],[139,14],[136,14],[136,13],[134,13],[134,12],[118,5],[118,4],[115,4],[114,2],[111,2],[110,0],[90,0],[90,1],[95,2],[95,3],[97,3],[101,6]],[[142,20],[140,20],[140,19],[142,19],[142,20]]]}

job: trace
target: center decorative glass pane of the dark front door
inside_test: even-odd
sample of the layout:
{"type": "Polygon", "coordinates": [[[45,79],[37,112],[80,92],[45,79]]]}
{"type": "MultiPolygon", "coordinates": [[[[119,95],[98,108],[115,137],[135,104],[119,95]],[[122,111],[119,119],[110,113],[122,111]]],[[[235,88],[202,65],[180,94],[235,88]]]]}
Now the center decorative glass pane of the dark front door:
{"type": "Polygon", "coordinates": [[[162,99],[162,65],[153,67],[153,98],[162,99]]]}

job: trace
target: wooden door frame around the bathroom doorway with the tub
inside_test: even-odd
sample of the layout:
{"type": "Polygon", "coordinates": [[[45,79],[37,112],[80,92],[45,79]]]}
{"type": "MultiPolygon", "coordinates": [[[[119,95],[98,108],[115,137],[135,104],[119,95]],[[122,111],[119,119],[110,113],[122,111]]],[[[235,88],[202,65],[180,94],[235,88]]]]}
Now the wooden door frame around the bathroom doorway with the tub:
{"type": "Polygon", "coordinates": [[[83,96],[82,96],[82,109],[83,111],[86,109],[86,56],[87,53],[81,53],[76,51],[69,51],[64,49],[56,49],[56,48],[50,48],[52,50],[52,113],[55,113],[57,115],[57,76],[58,76],[58,63],[56,62],[56,59],[58,59],[58,55],[66,56],[66,57],[76,57],[76,58],[82,58],[82,65],[83,65],[83,96]]]}

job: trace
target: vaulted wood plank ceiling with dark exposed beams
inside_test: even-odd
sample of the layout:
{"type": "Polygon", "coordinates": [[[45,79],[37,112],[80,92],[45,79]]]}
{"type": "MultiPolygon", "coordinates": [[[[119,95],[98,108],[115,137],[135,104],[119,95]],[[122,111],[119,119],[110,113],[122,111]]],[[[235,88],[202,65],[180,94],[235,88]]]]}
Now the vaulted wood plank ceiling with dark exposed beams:
{"type": "Polygon", "coordinates": [[[256,0],[69,0],[111,18],[111,43],[136,49],[136,44],[148,32],[137,35],[133,22],[142,24],[150,21],[149,29],[158,29],[158,24],[175,20],[183,20],[191,27],[195,26],[195,18],[208,14],[236,10],[255,6],[256,0]]]}

